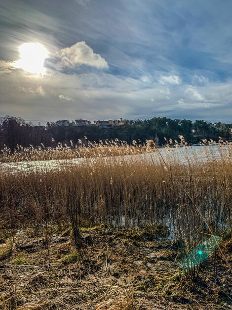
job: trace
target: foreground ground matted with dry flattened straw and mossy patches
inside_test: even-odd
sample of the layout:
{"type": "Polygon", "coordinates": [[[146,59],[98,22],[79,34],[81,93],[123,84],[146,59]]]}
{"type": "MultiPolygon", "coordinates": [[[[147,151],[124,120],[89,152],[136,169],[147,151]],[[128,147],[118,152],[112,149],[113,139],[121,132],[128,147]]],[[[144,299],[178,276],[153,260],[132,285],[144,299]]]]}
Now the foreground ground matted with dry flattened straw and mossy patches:
{"type": "MultiPolygon", "coordinates": [[[[232,309],[232,277],[220,251],[191,281],[173,241],[104,225],[82,233],[79,251],[68,231],[50,233],[48,243],[39,233],[21,232],[16,247],[3,238],[0,309],[232,309]]],[[[221,248],[231,264],[231,237],[221,248]]]]}

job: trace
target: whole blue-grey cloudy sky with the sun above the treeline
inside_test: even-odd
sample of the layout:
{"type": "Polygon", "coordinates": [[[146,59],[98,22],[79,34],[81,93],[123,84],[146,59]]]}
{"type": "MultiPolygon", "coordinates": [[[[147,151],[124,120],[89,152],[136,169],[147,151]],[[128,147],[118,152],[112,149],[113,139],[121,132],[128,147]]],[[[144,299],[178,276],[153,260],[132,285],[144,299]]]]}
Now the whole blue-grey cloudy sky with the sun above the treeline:
{"type": "Polygon", "coordinates": [[[0,116],[232,123],[231,12],[231,0],[1,0],[0,116]]]}

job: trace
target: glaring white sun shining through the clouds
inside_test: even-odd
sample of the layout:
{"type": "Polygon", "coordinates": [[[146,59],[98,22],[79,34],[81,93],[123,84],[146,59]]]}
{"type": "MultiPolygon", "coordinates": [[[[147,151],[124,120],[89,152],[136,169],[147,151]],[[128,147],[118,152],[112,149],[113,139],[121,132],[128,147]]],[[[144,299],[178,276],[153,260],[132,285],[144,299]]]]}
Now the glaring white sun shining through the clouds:
{"type": "Polygon", "coordinates": [[[42,75],[45,73],[44,59],[48,57],[46,48],[40,43],[24,43],[19,47],[20,59],[14,62],[16,68],[42,75]]]}

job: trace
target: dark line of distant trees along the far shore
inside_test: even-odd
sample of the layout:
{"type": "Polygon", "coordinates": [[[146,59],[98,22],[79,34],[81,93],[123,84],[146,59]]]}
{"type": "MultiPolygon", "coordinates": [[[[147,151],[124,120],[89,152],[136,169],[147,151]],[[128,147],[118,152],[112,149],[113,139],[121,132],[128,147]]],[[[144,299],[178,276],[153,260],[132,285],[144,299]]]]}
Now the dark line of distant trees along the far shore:
{"type": "Polygon", "coordinates": [[[149,120],[131,120],[125,126],[112,128],[99,128],[96,126],[77,127],[73,123],[69,126],[56,126],[53,122],[47,122],[46,126],[35,126],[25,122],[20,117],[5,116],[0,118],[0,148],[6,145],[11,150],[18,146],[30,145],[55,147],[58,142],[70,146],[70,140],[74,143],[84,136],[89,141],[124,140],[131,144],[133,140],[141,141],[153,139],[156,144],[166,144],[165,139],[176,139],[183,135],[189,144],[196,144],[202,139],[232,140],[232,124],[221,122],[211,123],[203,120],[192,122],[187,119],[170,119],[166,117],[154,117],[149,120]]]}

